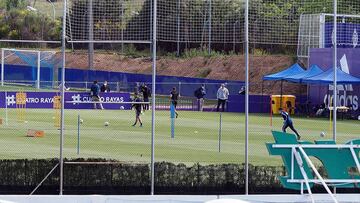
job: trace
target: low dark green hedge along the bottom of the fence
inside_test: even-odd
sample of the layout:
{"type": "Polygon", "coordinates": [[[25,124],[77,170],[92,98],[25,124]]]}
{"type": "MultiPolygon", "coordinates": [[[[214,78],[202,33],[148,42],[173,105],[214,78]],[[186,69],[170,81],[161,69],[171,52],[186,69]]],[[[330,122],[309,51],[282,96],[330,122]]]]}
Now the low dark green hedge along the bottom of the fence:
{"type": "MultiPolygon", "coordinates": [[[[114,164],[65,164],[65,194],[149,194],[150,164],[119,163],[105,159],[73,159],[67,162],[116,162],[114,164]]],[[[58,163],[56,159],[0,160],[0,193],[29,194],[58,163]]],[[[249,167],[251,193],[289,193],[277,178],[280,166],[249,167]]],[[[159,162],[155,164],[156,194],[241,194],[244,193],[243,164],[192,166],[159,162]]],[[[36,194],[58,194],[59,168],[36,194]]]]}

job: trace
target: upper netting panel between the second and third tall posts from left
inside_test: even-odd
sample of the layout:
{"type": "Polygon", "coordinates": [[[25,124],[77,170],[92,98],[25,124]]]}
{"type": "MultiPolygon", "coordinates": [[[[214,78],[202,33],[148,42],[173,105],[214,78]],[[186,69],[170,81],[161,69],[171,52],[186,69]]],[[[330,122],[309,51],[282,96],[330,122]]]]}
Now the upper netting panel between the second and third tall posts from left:
{"type": "Polygon", "coordinates": [[[239,43],[243,36],[242,2],[170,0],[159,2],[159,40],[239,43]]]}

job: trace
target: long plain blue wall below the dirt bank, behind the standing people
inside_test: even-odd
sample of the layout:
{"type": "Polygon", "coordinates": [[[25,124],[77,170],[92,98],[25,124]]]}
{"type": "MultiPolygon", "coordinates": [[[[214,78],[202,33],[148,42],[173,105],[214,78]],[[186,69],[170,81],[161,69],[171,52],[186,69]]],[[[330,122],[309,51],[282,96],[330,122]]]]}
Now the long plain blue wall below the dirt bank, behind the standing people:
{"type": "MultiPolygon", "coordinates": [[[[50,68],[42,67],[40,69],[40,81],[53,81],[53,71],[50,68]]],[[[5,80],[6,81],[36,81],[37,68],[31,66],[21,65],[5,65],[5,80]]],[[[58,81],[61,80],[61,69],[58,71],[58,81]]],[[[81,70],[66,68],[65,79],[67,86],[74,88],[85,88],[85,82],[92,83],[92,81],[99,81],[100,85],[107,80],[111,84],[111,89],[116,90],[116,84],[119,83],[121,90],[133,92],[136,83],[146,83],[151,85],[151,75],[96,71],[96,70],[81,70]]],[[[231,95],[238,94],[240,88],[244,85],[242,81],[230,80],[211,80],[203,78],[189,78],[189,77],[175,77],[175,76],[157,76],[156,77],[156,93],[170,94],[172,87],[176,87],[182,96],[194,96],[194,91],[200,87],[200,84],[206,85],[208,99],[216,99],[216,92],[221,83],[227,83],[227,88],[231,95]]],[[[48,84],[48,83],[47,83],[48,84]]],[[[89,88],[88,84],[88,88],[89,88]]]]}

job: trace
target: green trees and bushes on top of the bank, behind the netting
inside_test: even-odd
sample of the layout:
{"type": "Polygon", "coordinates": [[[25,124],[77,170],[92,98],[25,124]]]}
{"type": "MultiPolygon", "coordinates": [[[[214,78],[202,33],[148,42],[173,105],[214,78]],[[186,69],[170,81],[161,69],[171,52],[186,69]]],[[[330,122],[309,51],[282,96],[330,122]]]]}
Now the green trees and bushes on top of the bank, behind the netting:
{"type": "MultiPolygon", "coordinates": [[[[26,12],[27,0],[2,0],[0,1],[0,9],[6,9],[4,15],[0,16],[0,37],[10,39],[41,39],[43,40],[59,40],[61,23],[60,21],[51,22],[48,18],[40,14],[26,12]],[[18,14],[9,14],[11,11],[17,10],[18,14]],[[21,12],[26,12],[23,14],[21,12]],[[25,18],[25,15],[27,16],[25,18]],[[4,19],[10,18],[6,24],[4,19]],[[27,27],[31,28],[27,28],[27,27]]],[[[37,2],[40,3],[39,1],[37,2]]],[[[69,5],[70,19],[74,19],[68,23],[76,23],[76,25],[88,24],[88,12],[86,9],[88,1],[79,0],[72,1],[69,5]],[[75,20],[76,19],[76,20],[75,20]]],[[[124,39],[137,38],[138,40],[148,40],[144,33],[151,33],[151,18],[149,18],[149,9],[152,1],[144,0],[142,3],[133,4],[130,0],[94,0],[94,35],[95,36],[123,36],[124,39]],[[119,9],[106,9],[108,7],[116,7],[119,9]],[[122,17],[119,17],[123,15],[122,17]],[[139,27],[140,26],[140,27],[139,27]],[[135,36],[135,37],[134,37],[135,36]]],[[[210,54],[202,49],[207,46],[207,16],[209,12],[209,1],[204,0],[186,0],[181,1],[181,15],[178,15],[177,9],[174,8],[176,2],[173,0],[159,0],[158,7],[158,32],[166,33],[169,39],[177,38],[177,29],[169,29],[174,27],[174,23],[178,18],[181,22],[181,41],[186,41],[186,47],[182,57],[191,56],[217,56],[223,53],[212,52],[210,54]],[[199,20],[203,19],[203,20],[199,20]],[[199,34],[201,32],[201,35],[199,34]],[[193,44],[192,44],[193,43],[193,44]],[[193,50],[191,47],[202,47],[199,50],[193,50]]],[[[354,5],[351,0],[338,0],[341,5],[338,13],[342,14],[359,14],[360,8],[354,5]]],[[[60,4],[59,4],[60,5],[60,4]]],[[[301,14],[310,13],[331,13],[332,0],[252,0],[250,1],[249,25],[250,25],[250,43],[256,44],[256,48],[266,50],[269,53],[281,53],[294,55],[296,53],[294,40],[298,36],[298,26],[301,14]],[[270,44],[270,45],[269,45],[270,44]]],[[[60,7],[60,6],[58,6],[60,7]]],[[[234,38],[233,29],[236,28],[235,38],[244,40],[244,2],[239,0],[213,0],[212,1],[212,41],[221,42],[223,39],[234,38]],[[219,30],[223,30],[224,32],[219,30]]],[[[39,12],[41,13],[41,12],[39,12]]],[[[61,15],[61,10],[57,11],[57,15],[61,15]]],[[[52,16],[52,14],[50,15],[52,16]]],[[[68,25],[70,26],[70,25],[68,25]]],[[[72,33],[74,39],[87,39],[88,27],[80,26],[76,32],[72,33]]],[[[185,43],[181,46],[184,47],[185,43]]],[[[81,45],[79,45],[81,46],[81,45]]],[[[84,48],[86,45],[83,45],[84,48]]],[[[113,45],[101,45],[102,48],[111,47],[113,45]]],[[[166,52],[176,51],[176,46],[172,43],[161,43],[158,45],[159,50],[166,52]]],[[[224,51],[224,46],[214,43],[214,50],[224,51]]],[[[130,47],[127,55],[137,56],[139,50],[143,47],[130,47]],[[134,49],[133,49],[134,48],[134,49]]],[[[183,51],[183,49],[181,49],[183,51]]],[[[241,50],[241,48],[240,48],[241,50]]],[[[227,50],[228,51],[228,50],[227,50]]],[[[255,53],[257,50],[254,51],[255,53]]],[[[264,53],[267,54],[267,53],[264,53]]],[[[167,54],[163,54],[167,55],[167,54]]],[[[170,54],[174,57],[174,54],[170,54]]]]}

